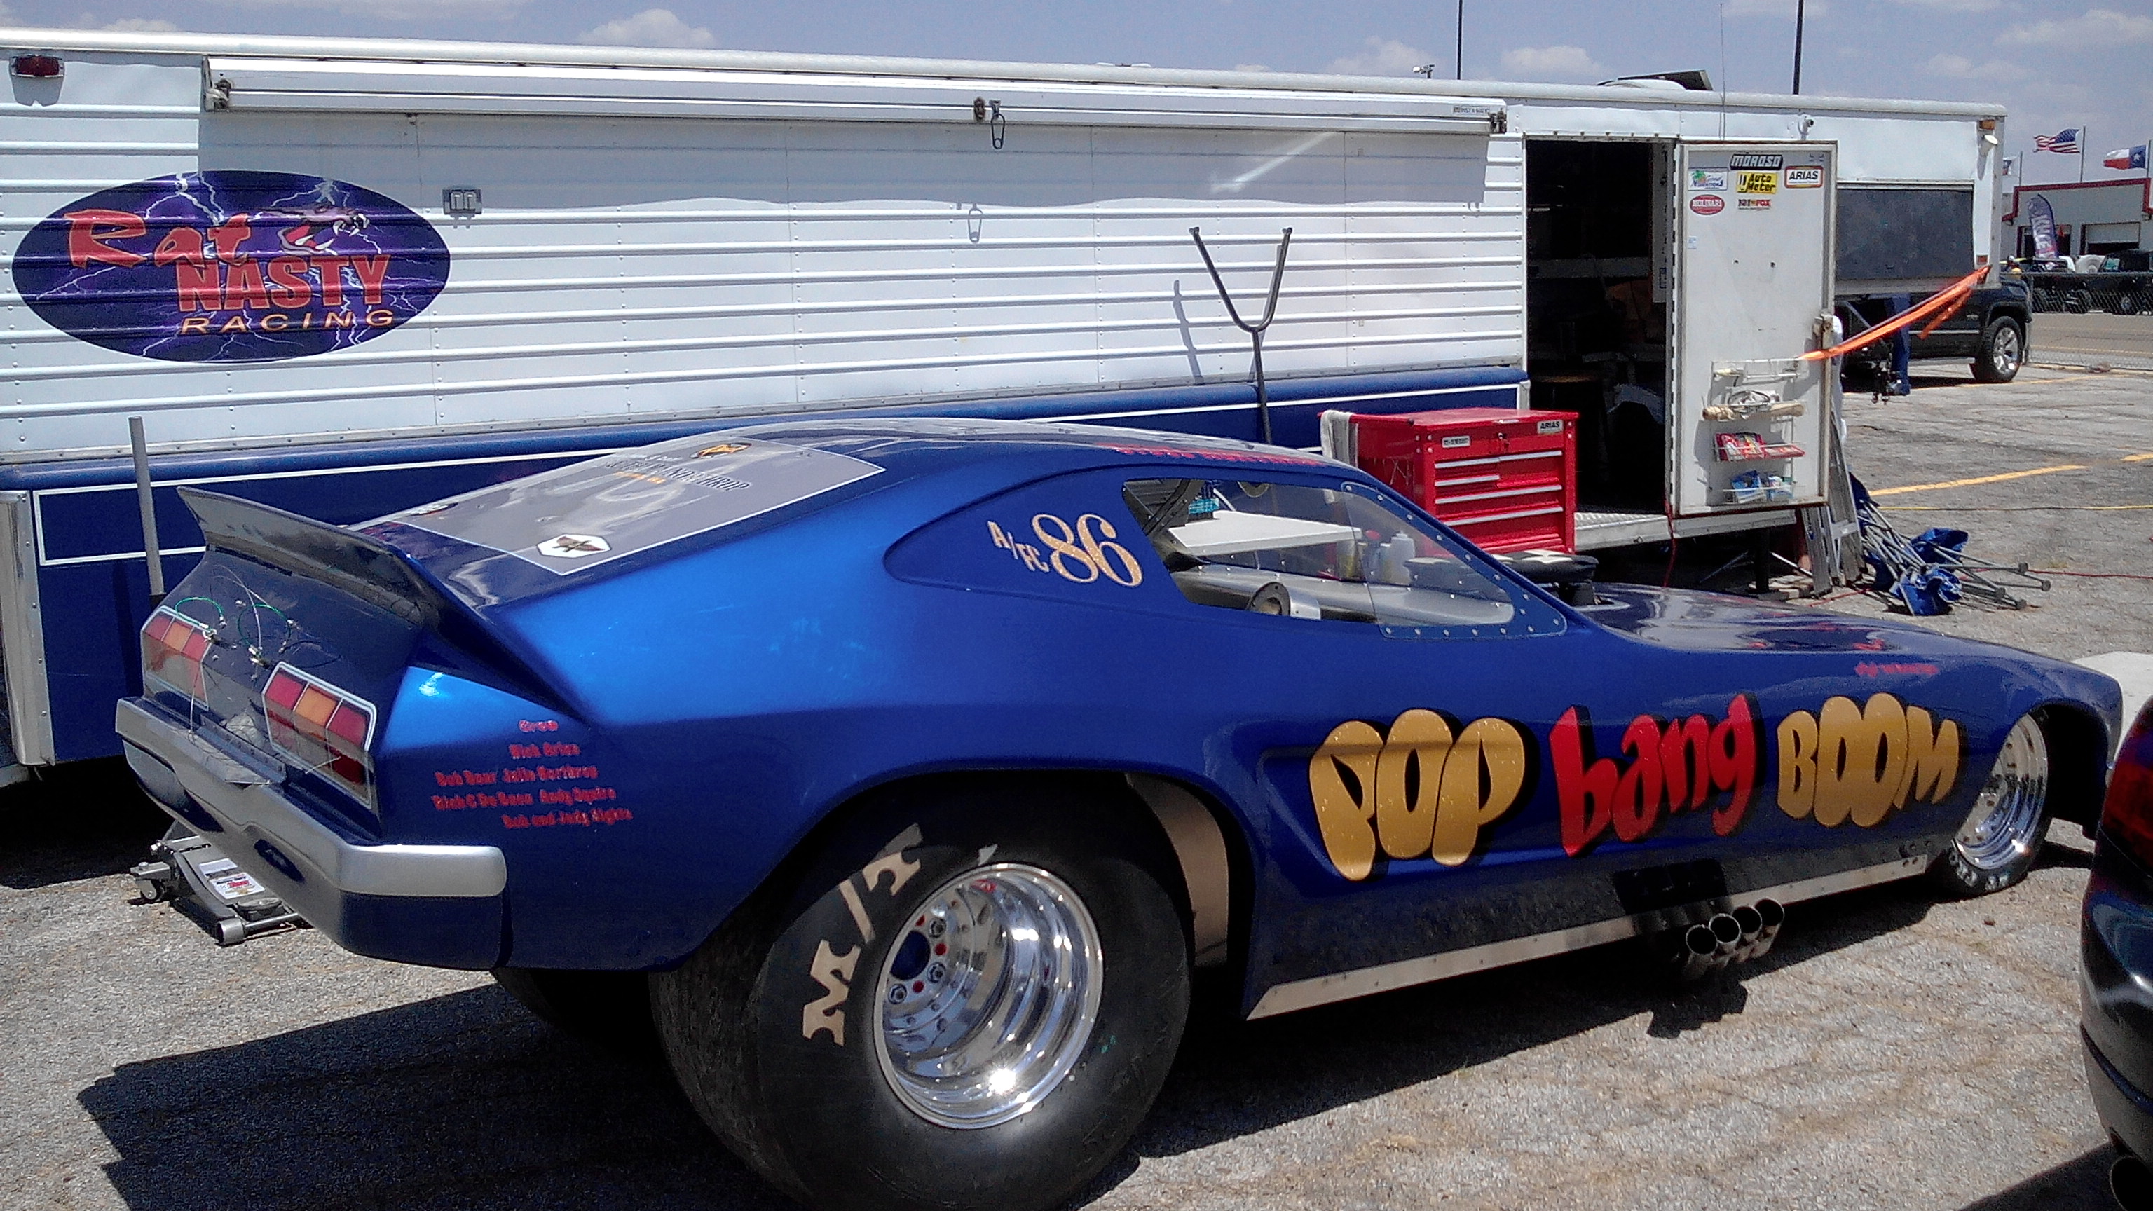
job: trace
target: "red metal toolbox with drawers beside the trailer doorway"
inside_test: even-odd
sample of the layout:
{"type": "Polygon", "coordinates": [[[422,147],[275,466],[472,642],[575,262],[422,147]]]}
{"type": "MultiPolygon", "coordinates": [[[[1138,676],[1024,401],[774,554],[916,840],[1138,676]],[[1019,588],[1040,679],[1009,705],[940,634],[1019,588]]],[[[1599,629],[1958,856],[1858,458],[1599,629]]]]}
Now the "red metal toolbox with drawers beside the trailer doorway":
{"type": "Polygon", "coordinates": [[[1578,418],[1451,407],[1354,414],[1361,470],[1488,552],[1576,549],[1578,418]]]}

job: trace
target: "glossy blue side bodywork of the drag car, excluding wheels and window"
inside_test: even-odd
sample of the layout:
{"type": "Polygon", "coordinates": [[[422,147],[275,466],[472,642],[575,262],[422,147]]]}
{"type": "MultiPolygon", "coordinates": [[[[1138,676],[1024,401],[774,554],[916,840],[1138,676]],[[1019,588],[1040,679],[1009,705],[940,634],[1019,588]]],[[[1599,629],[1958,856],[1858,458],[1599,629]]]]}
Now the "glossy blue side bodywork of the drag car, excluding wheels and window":
{"type": "MultiPolygon", "coordinates": [[[[969,422],[721,437],[878,472],[571,573],[424,530],[422,515],[366,528],[454,606],[431,627],[388,614],[347,627],[370,636],[366,655],[321,644],[312,672],[381,707],[379,819],[319,789],[306,802],[357,840],[499,847],[491,963],[678,963],[831,812],[904,778],[1152,774],[1204,795],[1244,855],[1253,1006],[1294,980],[1619,918],[1641,871],[1716,864],[1740,894],[1933,855],[2020,715],[2114,726],[2112,681],[2028,653],[1697,593],[1608,586],[1574,610],[1492,562],[1483,573],[1514,601],[1501,625],[1186,599],[1137,537],[1128,481],[1311,485],[1419,517],[1365,474],[1292,450],[969,422]],[[1049,539],[1040,517],[1083,519],[1132,562],[1064,575],[1042,567],[1053,549],[1029,560],[1001,543],[1049,539]],[[1404,743],[1415,711],[1443,713],[1460,746],[1488,722],[1475,733],[1488,754],[1522,739],[1501,769],[1486,756],[1477,789],[1460,782],[1488,802],[1455,853],[1380,853],[1374,808],[1356,821],[1322,789],[1324,754],[1374,763],[1346,741],[1404,743]],[[1875,748],[1884,733],[1901,737],[1890,752],[1875,748]],[[1920,741],[1914,756],[1903,737],[1920,741]],[[1877,767],[1837,771],[1837,752],[1877,767]]],[[[228,549],[174,597],[228,597],[220,577],[301,625],[332,599],[349,608],[228,549]]],[[[1376,795],[1339,787],[1348,808],[1376,795]]],[[[422,939],[396,957],[444,961],[422,939]]]]}

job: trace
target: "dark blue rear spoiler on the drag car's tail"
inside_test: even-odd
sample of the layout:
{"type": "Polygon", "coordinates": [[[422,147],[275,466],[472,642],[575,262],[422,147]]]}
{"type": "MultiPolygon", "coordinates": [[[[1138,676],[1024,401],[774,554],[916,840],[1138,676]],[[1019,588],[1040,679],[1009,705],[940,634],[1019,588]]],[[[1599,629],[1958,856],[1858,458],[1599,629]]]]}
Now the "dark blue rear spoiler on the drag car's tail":
{"type": "Polygon", "coordinates": [[[575,713],[560,692],[530,662],[510,651],[476,610],[444,590],[405,552],[357,530],[299,517],[271,504],[198,487],[177,491],[202,526],[202,541],[209,549],[316,580],[396,614],[493,668],[512,681],[525,698],[575,713]]]}

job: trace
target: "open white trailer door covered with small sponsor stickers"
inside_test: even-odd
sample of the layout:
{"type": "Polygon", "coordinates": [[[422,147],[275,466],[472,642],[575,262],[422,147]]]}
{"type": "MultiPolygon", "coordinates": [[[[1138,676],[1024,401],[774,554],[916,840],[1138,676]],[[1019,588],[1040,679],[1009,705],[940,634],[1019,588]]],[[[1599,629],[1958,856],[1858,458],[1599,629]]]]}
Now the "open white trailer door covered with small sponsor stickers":
{"type": "Polygon", "coordinates": [[[1681,142],[1669,513],[1821,504],[1834,147],[1681,142]]]}

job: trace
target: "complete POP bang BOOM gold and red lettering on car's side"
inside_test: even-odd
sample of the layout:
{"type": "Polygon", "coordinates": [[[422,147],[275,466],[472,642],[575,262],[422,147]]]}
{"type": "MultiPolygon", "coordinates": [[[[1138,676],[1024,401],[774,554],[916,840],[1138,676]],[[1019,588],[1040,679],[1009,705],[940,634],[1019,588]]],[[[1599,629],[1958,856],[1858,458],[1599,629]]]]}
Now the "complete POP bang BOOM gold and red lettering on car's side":
{"type": "Polygon", "coordinates": [[[1570,707],[1546,737],[1507,720],[1458,726],[1436,711],[1406,711],[1389,733],[1350,720],[1309,758],[1309,797],[1331,866],[1350,881],[1382,860],[1432,858],[1462,866],[1488,827],[1533,797],[1539,769],[1554,780],[1563,853],[1606,840],[1643,843],[1690,815],[1733,836],[1778,774],[1776,802],[1824,827],[1877,827],[1916,804],[1944,804],[1959,784],[1966,737],[1955,720],[1892,694],[1867,702],[1826,698],[1791,711],[1770,739],[1753,694],[1716,715],[1636,715],[1598,752],[1591,713],[1570,707]]]}

